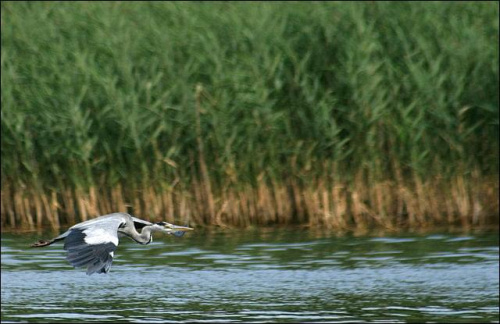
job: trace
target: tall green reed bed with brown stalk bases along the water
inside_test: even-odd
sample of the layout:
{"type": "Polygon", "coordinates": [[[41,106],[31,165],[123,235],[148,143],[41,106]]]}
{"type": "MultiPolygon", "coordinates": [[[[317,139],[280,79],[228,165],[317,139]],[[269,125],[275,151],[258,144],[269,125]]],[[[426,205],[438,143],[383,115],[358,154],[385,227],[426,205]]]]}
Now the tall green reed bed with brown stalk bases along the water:
{"type": "Polygon", "coordinates": [[[2,2],[1,225],[499,222],[497,2],[2,2]]]}

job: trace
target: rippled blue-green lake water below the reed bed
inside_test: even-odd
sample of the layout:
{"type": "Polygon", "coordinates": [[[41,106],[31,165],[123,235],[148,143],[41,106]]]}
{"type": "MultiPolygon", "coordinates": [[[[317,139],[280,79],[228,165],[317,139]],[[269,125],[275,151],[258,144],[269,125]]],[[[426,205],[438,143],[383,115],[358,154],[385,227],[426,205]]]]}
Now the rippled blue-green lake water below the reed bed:
{"type": "Polygon", "coordinates": [[[156,233],[92,276],[44,234],[2,233],[4,323],[499,321],[496,231],[156,233]]]}

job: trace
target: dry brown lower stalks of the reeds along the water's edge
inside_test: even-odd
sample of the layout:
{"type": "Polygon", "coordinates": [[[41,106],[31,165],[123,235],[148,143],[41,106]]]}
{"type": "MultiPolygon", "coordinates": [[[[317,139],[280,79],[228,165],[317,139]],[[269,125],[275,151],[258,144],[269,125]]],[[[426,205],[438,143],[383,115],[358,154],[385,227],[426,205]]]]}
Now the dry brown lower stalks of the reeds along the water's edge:
{"type": "Polygon", "coordinates": [[[413,183],[384,181],[327,183],[319,178],[307,185],[295,179],[241,188],[228,186],[220,194],[207,192],[195,181],[190,188],[140,191],[121,185],[88,192],[1,191],[2,227],[35,229],[71,225],[112,213],[131,212],[150,220],[206,226],[266,226],[303,224],[332,230],[422,228],[434,225],[482,226],[498,223],[498,182],[455,177],[413,183]],[[131,208],[133,207],[133,208],[131,208]]]}

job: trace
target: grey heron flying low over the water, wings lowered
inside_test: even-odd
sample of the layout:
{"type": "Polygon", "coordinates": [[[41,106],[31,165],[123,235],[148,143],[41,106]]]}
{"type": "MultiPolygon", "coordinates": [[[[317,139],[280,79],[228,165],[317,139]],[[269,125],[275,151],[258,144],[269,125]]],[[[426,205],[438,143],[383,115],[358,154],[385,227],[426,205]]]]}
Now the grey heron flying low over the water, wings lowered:
{"type": "Polygon", "coordinates": [[[167,222],[151,223],[126,213],[113,213],[78,223],[52,240],[40,240],[31,246],[43,247],[64,240],[69,263],[75,268],[87,267],[87,275],[91,275],[109,271],[120,237],[126,236],[139,244],[149,244],[153,242],[153,232],[180,237],[191,230],[190,227],[167,222]]]}

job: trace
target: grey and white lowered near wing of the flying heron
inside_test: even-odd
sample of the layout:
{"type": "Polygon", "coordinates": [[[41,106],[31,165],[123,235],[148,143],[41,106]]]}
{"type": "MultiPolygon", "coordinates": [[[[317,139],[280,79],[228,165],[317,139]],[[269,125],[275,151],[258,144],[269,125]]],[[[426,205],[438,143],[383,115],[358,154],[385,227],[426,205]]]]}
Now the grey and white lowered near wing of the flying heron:
{"type": "Polygon", "coordinates": [[[87,267],[88,275],[107,273],[118,246],[118,228],[127,216],[111,214],[71,227],[64,240],[66,259],[74,267],[87,267]]]}

